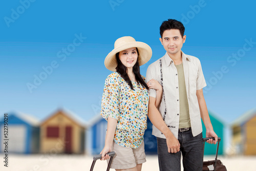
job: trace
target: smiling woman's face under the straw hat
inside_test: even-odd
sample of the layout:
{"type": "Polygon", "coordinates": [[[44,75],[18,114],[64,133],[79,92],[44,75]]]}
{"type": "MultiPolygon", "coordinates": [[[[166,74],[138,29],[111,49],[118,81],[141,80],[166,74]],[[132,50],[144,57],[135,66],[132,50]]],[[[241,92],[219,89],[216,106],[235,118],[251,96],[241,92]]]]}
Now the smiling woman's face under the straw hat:
{"type": "Polygon", "coordinates": [[[127,69],[133,68],[138,59],[138,52],[136,48],[125,49],[119,52],[119,59],[127,69]]]}

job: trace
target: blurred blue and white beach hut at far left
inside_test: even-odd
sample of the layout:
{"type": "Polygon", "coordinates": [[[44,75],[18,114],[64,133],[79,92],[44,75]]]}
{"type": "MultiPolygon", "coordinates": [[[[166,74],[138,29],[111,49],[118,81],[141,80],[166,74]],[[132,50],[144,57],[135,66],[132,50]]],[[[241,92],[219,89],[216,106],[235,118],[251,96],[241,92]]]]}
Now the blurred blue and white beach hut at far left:
{"type": "MultiPolygon", "coordinates": [[[[7,113],[8,122],[1,121],[1,140],[8,139],[8,153],[32,154],[39,151],[39,121],[31,115],[11,112],[7,113]],[[4,123],[8,123],[4,127],[4,123]],[[7,131],[7,132],[4,132],[7,131]],[[7,137],[4,136],[7,133],[7,137]]],[[[4,152],[4,143],[0,144],[4,152]]]]}

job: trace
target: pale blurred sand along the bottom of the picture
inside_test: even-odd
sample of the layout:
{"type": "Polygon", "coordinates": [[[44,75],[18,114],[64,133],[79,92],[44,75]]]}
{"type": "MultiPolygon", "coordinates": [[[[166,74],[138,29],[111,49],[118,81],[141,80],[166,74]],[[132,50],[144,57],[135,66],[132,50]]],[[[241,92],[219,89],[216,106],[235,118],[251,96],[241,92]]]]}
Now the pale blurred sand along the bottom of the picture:
{"type": "MultiPolygon", "coordinates": [[[[4,166],[4,154],[0,154],[2,162],[0,170],[9,171],[71,171],[71,170],[90,170],[93,156],[89,155],[17,155],[9,154],[8,167],[4,166]]],[[[215,156],[205,156],[204,160],[213,160],[215,156]]],[[[234,171],[255,171],[256,156],[219,156],[227,170],[234,171]]],[[[142,165],[142,171],[152,170],[158,171],[157,156],[147,155],[147,162],[142,165]]],[[[105,161],[97,161],[94,170],[106,170],[105,161]]],[[[114,169],[110,169],[114,170],[114,169]]],[[[183,169],[182,169],[183,170],[183,169]]]]}

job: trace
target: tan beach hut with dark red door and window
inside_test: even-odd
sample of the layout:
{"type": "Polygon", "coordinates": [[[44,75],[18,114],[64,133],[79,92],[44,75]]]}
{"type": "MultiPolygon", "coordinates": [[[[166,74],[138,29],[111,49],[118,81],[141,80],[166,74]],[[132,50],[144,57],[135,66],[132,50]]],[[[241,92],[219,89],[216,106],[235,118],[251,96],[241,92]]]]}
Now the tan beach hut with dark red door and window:
{"type": "Polygon", "coordinates": [[[40,124],[40,152],[83,154],[86,123],[76,114],[59,109],[40,124]]]}

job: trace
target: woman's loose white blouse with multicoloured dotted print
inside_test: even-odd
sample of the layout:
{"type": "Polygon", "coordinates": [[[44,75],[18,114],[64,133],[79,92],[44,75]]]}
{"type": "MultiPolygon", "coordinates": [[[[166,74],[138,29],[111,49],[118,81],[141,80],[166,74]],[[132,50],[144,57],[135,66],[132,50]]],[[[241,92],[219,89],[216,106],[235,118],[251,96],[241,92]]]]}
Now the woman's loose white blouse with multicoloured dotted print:
{"type": "Polygon", "coordinates": [[[100,115],[106,120],[117,120],[115,143],[137,148],[146,130],[148,92],[140,83],[132,84],[134,90],[119,73],[110,74],[105,80],[100,115]]]}

